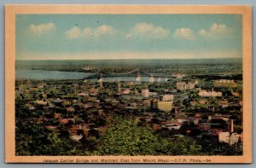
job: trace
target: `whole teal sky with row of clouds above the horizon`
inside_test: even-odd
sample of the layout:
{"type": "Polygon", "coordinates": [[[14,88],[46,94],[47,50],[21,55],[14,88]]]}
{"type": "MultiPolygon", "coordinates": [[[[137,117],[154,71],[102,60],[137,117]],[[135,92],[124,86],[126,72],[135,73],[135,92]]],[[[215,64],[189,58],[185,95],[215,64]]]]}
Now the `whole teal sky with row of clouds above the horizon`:
{"type": "Polygon", "coordinates": [[[17,14],[16,60],[241,58],[241,14],[17,14]]]}

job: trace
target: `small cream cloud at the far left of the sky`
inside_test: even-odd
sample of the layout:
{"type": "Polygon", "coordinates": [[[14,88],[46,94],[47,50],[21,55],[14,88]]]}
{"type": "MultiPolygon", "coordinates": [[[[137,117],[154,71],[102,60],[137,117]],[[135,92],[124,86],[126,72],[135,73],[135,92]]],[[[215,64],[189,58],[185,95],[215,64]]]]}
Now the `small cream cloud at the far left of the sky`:
{"type": "Polygon", "coordinates": [[[45,23],[45,24],[40,24],[40,25],[30,25],[28,26],[28,31],[33,35],[33,36],[41,36],[45,33],[51,32],[55,30],[55,25],[51,22],[45,23]]]}

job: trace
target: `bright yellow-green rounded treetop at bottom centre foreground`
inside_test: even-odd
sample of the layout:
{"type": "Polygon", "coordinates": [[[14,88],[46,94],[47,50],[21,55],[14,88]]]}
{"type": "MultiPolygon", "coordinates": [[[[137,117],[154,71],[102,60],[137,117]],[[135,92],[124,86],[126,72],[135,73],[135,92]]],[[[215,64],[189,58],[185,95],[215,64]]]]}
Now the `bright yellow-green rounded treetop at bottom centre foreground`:
{"type": "Polygon", "coordinates": [[[154,155],[158,137],[148,127],[137,126],[131,119],[116,119],[98,146],[100,155],[154,155]]]}

